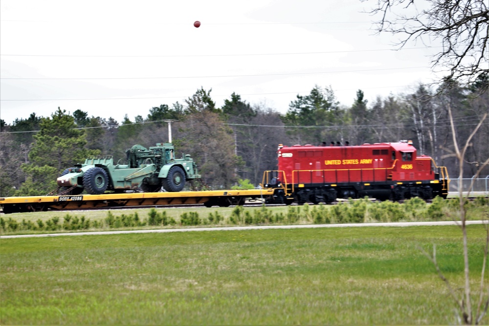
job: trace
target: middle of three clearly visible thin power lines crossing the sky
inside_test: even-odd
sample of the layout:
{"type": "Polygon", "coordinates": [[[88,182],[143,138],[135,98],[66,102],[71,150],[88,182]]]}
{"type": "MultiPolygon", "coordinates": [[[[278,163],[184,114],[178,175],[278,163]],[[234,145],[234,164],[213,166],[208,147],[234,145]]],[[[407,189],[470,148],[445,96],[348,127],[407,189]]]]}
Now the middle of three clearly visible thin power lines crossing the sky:
{"type": "Polygon", "coordinates": [[[381,69],[363,69],[363,70],[342,70],[342,71],[317,71],[317,72],[289,72],[276,74],[252,74],[252,75],[222,75],[222,76],[172,76],[172,77],[102,77],[102,78],[0,78],[0,80],[133,80],[133,79],[184,79],[184,78],[227,78],[227,77],[259,77],[259,76],[293,76],[293,75],[314,75],[330,74],[345,72],[365,72],[365,71],[383,71],[383,70],[400,70],[400,69],[419,69],[418,67],[398,67],[398,68],[381,68],[381,69]]]}

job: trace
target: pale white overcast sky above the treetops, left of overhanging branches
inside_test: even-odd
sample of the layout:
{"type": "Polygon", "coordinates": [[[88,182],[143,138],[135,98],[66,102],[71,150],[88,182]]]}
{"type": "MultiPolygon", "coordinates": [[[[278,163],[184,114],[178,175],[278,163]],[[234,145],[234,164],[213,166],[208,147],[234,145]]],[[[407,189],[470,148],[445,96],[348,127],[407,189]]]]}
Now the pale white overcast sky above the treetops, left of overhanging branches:
{"type": "Polygon", "coordinates": [[[218,107],[236,92],[285,113],[314,85],[350,106],[358,89],[371,103],[432,81],[440,49],[394,51],[363,13],[370,2],[1,0],[0,117],[60,107],[121,122],[200,87],[218,107]]]}

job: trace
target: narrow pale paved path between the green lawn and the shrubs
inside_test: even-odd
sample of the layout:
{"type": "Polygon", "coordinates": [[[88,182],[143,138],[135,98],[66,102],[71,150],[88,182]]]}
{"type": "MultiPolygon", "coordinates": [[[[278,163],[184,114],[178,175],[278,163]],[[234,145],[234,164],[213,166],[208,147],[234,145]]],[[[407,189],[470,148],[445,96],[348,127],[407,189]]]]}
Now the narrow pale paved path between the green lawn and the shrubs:
{"type": "MultiPolygon", "coordinates": [[[[488,220],[467,221],[470,224],[488,224],[488,220]]],[[[232,231],[232,230],[267,230],[267,229],[309,229],[309,228],[334,228],[334,227],[369,227],[369,226],[433,226],[433,225],[460,225],[460,221],[438,221],[438,222],[391,222],[391,223],[351,223],[351,224],[308,224],[308,225],[263,225],[263,226],[231,226],[212,228],[191,229],[160,229],[160,230],[133,230],[133,231],[94,231],[73,233],[48,233],[48,234],[26,234],[18,236],[0,236],[0,239],[11,238],[39,238],[60,236],[95,236],[108,234],[127,233],[168,233],[168,232],[190,232],[190,231],[232,231]]]]}

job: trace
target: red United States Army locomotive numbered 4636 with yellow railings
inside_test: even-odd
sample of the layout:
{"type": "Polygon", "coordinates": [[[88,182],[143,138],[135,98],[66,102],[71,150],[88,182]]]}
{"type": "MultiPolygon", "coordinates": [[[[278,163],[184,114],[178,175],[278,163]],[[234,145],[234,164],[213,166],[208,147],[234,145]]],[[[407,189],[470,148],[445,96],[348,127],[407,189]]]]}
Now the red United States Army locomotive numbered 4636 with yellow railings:
{"type": "Polygon", "coordinates": [[[278,170],[264,174],[266,188],[275,191],[275,201],[287,204],[331,203],[336,198],[369,196],[402,200],[419,196],[446,198],[446,167],[417,155],[411,141],[343,146],[279,145],[278,170]]]}

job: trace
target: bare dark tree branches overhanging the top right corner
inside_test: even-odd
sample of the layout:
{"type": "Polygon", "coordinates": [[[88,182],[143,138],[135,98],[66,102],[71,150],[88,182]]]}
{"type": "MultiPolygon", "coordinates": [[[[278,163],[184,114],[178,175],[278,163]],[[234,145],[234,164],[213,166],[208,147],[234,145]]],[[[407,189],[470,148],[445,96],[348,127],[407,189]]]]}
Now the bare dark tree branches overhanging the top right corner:
{"type": "MultiPolygon", "coordinates": [[[[440,43],[443,49],[432,57],[432,68],[446,73],[441,81],[453,80],[467,85],[487,78],[489,73],[489,10],[486,2],[416,1],[416,4],[429,6],[420,10],[415,0],[377,0],[368,13],[381,16],[375,22],[378,33],[388,32],[400,37],[395,43],[399,49],[409,42],[420,41],[427,46],[432,42],[440,43]]],[[[486,83],[482,92],[487,88],[486,83]]]]}

